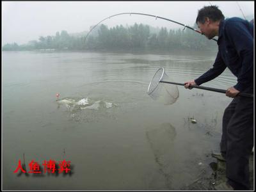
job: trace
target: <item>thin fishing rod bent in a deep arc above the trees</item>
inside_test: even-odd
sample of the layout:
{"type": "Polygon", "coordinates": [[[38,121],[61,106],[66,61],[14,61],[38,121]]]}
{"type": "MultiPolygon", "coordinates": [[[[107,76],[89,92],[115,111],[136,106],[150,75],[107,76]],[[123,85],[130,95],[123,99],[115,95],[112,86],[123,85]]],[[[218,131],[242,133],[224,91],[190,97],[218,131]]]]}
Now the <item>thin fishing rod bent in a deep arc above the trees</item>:
{"type": "MultiPolygon", "coordinates": [[[[103,19],[103,20],[100,20],[100,22],[98,22],[95,26],[93,26],[93,28],[90,29],[90,31],[87,33],[87,35],[86,35],[86,37],[85,37],[85,41],[86,41],[87,36],[91,33],[91,31],[92,31],[93,29],[95,29],[95,28],[96,28],[100,23],[102,23],[104,20],[111,19],[111,17],[115,17],[115,16],[118,16],[118,15],[128,15],[128,14],[129,14],[129,15],[145,15],[145,16],[149,16],[149,17],[154,17],[155,19],[164,19],[164,20],[168,20],[168,21],[170,21],[170,22],[174,22],[175,24],[179,24],[180,26],[184,26],[184,29],[188,28],[188,29],[191,29],[191,30],[195,31],[196,33],[200,33],[201,35],[203,35],[203,34],[201,33],[201,31],[198,31],[198,30],[196,30],[196,29],[194,29],[194,28],[191,28],[191,27],[189,27],[189,26],[187,26],[187,25],[185,25],[185,24],[182,24],[182,23],[180,23],[180,22],[177,22],[177,21],[175,21],[175,20],[166,19],[166,18],[164,18],[164,17],[159,17],[159,16],[157,16],[157,15],[150,15],[150,14],[146,14],[146,13],[133,13],[133,12],[131,12],[131,13],[118,13],[118,14],[111,15],[111,16],[109,16],[109,17],[106,17],[106,18],[103,19]]],[[[184,29],[183,29],[183,30],[184,30],[184,29]]],[[[216,40],[215,38],[212,38],[212,40],[214,40],[214,41],[217,42],[217,40],[216,40]]]]}

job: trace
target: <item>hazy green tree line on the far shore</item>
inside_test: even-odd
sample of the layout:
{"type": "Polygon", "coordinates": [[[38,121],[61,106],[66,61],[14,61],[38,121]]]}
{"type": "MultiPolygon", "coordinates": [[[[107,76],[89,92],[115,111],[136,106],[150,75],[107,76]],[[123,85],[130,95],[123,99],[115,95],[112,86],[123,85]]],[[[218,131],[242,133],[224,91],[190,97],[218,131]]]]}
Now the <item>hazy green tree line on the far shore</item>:
{"type": "Polygon", "coordinates": [[[207,40],[205,36],[198,35],[190,29],[170,29],[169,31],[166,28],[152,29],[154,28],[143,24],[126,27],[120,25],[113,28],[102,24],[88,38],[68,35],[67,31],[61,31],[61,33],[57,32],[55,36],[40,36],[38,40],[32,40],[24,45],[5,44],[3,51],[40,49],[168,51],[172,49],[214,49],[216,47],[216,42],[207,40]],[[95,35],[96,32],[98,35],[95,35]]]}

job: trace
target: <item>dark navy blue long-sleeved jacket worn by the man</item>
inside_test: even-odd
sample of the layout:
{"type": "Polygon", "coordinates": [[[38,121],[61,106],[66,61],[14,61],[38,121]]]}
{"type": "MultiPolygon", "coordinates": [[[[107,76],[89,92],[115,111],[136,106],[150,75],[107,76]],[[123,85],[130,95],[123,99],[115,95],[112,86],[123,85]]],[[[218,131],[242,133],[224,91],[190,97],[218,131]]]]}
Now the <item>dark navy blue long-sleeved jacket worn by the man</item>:
{"type": "Polygon", "coordinates": [[[253,93],[253,24],[238,17],[221,20],[218,47],[213,67],[195,79],[195,83],[211,81],[228,67],[237,77],[234,88],[253,93]]]}

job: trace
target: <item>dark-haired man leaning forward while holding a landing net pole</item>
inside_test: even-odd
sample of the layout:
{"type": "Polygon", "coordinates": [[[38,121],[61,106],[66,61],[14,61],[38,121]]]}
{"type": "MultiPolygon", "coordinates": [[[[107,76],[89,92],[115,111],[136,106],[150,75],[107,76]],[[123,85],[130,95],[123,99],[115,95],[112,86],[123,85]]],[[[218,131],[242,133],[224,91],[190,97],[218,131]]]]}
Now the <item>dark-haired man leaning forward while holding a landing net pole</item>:
{"type": "MultiPolygon", "coordinates": [[[[239,97],[240,92],[253,93],[253,24],[237,17],[225,19],[217,6],[198,11],[198,28],[207,38],[218,36],[218,54],[211,69],[193,81],[200,85],[219,76],[226,67],[237,77],[228,88],[234,98],[225,109],[221,136],[221,156],[226,161],[227,183],[216,189],[250,189],[249,157],[253,148],[253,98],[239,97]]],[[[217,156],[217,154],[213,154],[217,156]]]]}

